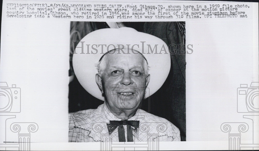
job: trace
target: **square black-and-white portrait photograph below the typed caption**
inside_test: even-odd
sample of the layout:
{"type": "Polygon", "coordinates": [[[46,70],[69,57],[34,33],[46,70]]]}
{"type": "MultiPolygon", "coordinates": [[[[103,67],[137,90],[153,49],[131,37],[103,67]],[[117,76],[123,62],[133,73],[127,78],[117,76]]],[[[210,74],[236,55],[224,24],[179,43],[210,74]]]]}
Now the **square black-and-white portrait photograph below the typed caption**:
{"type": "Polygon", "coordinates": [[[71,22],[70,41],[69,141],[186,140],[185,22],[71,22]]]}

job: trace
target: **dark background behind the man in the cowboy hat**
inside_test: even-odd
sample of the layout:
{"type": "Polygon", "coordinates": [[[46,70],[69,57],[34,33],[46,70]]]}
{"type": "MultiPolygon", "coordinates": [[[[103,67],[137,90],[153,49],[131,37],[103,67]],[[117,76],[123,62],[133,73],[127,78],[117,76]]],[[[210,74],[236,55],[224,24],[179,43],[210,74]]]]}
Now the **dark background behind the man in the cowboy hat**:
{"type": "MultiPolygon", "coordinates": [[[[159,37],[168,46],[176,44],[176,47],[170,47],[171,69],[166,81],[149,99],[142,101],[141,109],[169,120],[180,130],[181,141],[186,141],[185,22],[123,22],[123,24],[139,32],[159,37]]],[[[90,95],[80,85],[72,66],[75,41],[78,43],[88,33],[102,28],[110,27],[106,22],[70,23],[69,112],[96,109],[103,104],[103,101],[90,95]]]]}

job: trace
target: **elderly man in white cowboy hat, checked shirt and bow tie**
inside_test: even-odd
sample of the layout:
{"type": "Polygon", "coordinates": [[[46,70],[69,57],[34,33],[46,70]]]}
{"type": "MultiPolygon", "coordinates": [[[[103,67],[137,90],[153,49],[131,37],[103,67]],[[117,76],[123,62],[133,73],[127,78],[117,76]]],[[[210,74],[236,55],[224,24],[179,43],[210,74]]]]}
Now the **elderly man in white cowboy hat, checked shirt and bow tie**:
{"type": "Polygon", "coordinates": [[[70,142],[181,140],[179,129],[168,120],[139,109],[170,70],[170,55],[161,39],[122,27],[94,31],[80,44],[73,55],[75,75],[104,104],[69,114],[70,142]],[[102,47],[92,47],[96,43],[102,47]]]}

